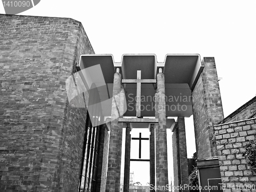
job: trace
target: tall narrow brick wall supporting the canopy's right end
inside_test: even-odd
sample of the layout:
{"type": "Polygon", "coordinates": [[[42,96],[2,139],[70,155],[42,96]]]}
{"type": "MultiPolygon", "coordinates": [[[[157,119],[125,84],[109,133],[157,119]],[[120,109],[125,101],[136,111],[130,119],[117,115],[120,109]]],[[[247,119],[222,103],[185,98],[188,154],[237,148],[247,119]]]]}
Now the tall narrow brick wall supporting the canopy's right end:
{"type": "Polygon", "coordinates": [[[211,139],[214,125],[224,118],[215,59],[204,57],[202,64],[204,70],[192,93],[198,159],[217,156],[211,139]]]}

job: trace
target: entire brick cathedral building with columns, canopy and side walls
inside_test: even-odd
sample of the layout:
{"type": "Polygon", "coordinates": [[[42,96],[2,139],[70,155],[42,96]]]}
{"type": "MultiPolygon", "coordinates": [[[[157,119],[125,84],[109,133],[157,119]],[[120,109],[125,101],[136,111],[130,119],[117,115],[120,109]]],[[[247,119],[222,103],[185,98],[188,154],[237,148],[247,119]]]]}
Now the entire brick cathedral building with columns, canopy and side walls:
{"type": "Polygon", "coordinates": [[[224,119],[214,57],[167,54],[158,62],[154,54],[124,54],[114,62],[94,53],[77,20],[0,19],[1,192],[119,192],[120,184],[128,192],[130,161],[150,162],[152,192],[167,192],[161,186],[170,171],[174,185],[187,185],[184,117],[191,115],[200,185],[229,192],[232,183],[255,183],[242,156],[255,139],[255,98],[224,119]],[[150,138],[131,138],[138,127],[150,138]],[[139,158],[130,158],[131,139],[150,140],[150,159],[140,157],[141,145],[139,158]],[[167,143],[174,170],[167,169],[167,143]]]}

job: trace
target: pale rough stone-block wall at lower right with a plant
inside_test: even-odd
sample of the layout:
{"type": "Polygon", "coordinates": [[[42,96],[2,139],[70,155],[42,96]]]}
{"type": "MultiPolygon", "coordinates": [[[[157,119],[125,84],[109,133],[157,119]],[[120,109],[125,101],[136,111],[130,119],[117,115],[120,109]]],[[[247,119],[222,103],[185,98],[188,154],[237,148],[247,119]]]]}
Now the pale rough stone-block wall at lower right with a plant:
{"type": "Polygon", "coordinates": [[[244,146],[255,139],[256,118],[218,124],[215,135],[222,183],[227,187],[224,192],[241,191],[230,189],[230,186],[236,185],[254,184],[255,187],[256,175],[252,174],[242,154],[245,152],[244,146]]]}

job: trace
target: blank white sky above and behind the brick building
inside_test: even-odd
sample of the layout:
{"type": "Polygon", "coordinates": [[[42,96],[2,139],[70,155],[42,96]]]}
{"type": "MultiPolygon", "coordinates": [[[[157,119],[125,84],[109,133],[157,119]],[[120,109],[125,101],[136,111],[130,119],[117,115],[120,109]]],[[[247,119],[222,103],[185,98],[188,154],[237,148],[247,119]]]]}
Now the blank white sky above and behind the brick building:
{"type": "MultiPolygon", "coordinates": [[[[113,54],[116,62],[126,53],[156,54],[159,62],[168,53],[215,57],[225,117],[256,95],[255,1],[44,0],[20,14],[79,20],[95,53],[113,54]]],[[[188,157],[193,132],[186,119],[188,157]]]]}

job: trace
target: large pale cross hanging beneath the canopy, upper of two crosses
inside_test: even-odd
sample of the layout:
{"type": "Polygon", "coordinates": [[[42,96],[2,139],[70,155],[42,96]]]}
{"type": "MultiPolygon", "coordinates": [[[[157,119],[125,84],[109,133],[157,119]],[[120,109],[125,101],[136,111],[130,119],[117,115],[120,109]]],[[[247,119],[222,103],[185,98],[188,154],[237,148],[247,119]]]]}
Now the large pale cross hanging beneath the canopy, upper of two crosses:
{"type": "Polygon", "coordinates": [[[141,83],[156,83],[156,79],[141,79],[141,71],[137,71],[137,79],[122,79],[122,83],[137,83],[136,117],[141,117],[141,83]]]}

